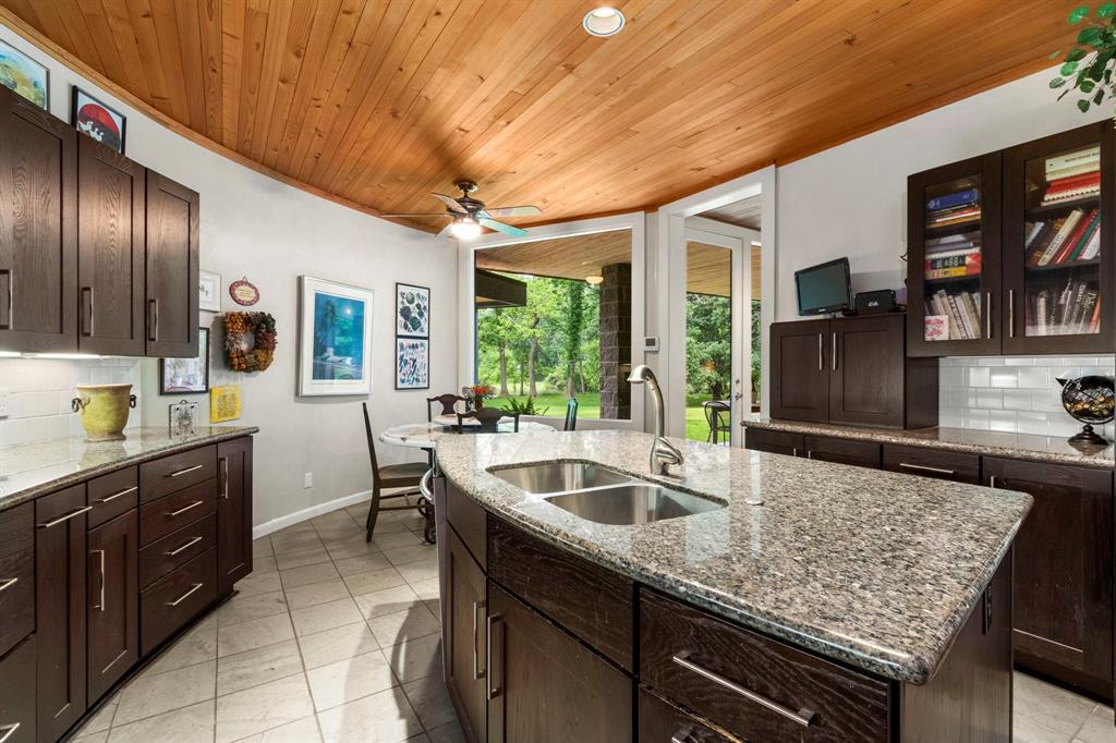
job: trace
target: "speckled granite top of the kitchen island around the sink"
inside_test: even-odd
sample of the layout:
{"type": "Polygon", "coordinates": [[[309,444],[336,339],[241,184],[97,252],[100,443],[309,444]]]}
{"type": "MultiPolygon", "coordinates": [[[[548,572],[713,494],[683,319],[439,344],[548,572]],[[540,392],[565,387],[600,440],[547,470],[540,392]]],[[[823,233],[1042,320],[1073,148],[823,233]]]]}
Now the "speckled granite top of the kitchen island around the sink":
{"type": "Polygon", "coordinates": [[[1031,498],[672,440],[679,477],[647,474],[654,437],[628,431],[451,436],[441,471],[488,511],[562,549],[821,655],[915,684],[933,677],[1007,553],[1031,498]],[[727,503],[617,527],[488,472],[599,462],[727,503]],[[762,498],[762,505],[748,499],[762,498]]]}

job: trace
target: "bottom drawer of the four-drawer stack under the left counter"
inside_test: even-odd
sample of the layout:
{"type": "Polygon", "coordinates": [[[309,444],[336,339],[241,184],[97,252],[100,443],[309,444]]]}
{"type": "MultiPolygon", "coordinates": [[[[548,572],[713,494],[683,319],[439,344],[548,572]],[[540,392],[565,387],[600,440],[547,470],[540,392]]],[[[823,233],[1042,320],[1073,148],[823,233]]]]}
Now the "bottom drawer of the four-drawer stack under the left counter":
{"type": "Polygon", "coordinates": [[[140,650],[147,655],[217,598],[217,550],[210,549],[140,594],[140,650]]]}

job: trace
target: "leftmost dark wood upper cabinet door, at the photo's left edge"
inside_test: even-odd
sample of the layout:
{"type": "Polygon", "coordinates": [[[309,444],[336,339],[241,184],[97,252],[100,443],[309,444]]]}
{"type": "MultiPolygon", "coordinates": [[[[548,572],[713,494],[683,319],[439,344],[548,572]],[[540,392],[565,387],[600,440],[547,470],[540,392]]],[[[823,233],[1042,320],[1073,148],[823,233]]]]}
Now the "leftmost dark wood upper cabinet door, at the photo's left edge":
{"type": "Polygon", "coordinates": [[[77,132],[0,88],[0,349],[77,349],[77,132]]]}

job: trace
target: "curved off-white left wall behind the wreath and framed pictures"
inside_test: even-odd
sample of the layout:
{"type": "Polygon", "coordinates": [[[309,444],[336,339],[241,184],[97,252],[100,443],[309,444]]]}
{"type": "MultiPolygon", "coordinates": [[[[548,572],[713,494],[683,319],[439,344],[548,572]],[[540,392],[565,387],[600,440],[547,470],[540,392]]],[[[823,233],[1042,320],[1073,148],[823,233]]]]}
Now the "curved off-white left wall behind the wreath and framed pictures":
{"type": "MultiPolygon", "coordinates": [[[[276,316],[279,346],[276,363],[262,374],[219,372],[217,384],[242,385],[240,425],[257,425],[254,521],[261,524],[304,509],[366,491],[371,471],[357,397],[299,398],[295,395],[297,348],[297,278],[307,273],[374,289],[374,338],[371,364],[374,425],[382,430],[425,419],[429,394],[456,388],[456,252],[449,240],[392,224],[292,189],[165,129],[105,95],[60,62],[33,48],[7,28],[0,38],[50,67],[50,110],[69,119],[70,84],[77,83],[127,116],[129,157],[182,182],[201,194],[201,267],[221,273],[224,286],[247,276],[260,289],[254,309],[276,316]],[[394,284],[432,290],[431,388],[394,390],[394,284]],[[302,489],[302,475],[314,472],[314,488],[302,489]]],[[[225,295],[227,297],[227,295],[225,295]]],[[[225,298],[224,309],[231,309],[225,298]]],[[[203,312],[201,321],[212,319],[203,312]]],[[[214,335],[214,341],[219,336],[214,335]]],[[[20,360],[19,364],[36,364],[20,360]]],[[[157,363],[143,367],[143,422],[166,424],[166,404],[181,395],[157,396],[157,363]]],[[[208,398],[194,396],[205,404],[208,398]]],[[[378,447],[381,461],[421,459],[392,447],[378,447]]]]}

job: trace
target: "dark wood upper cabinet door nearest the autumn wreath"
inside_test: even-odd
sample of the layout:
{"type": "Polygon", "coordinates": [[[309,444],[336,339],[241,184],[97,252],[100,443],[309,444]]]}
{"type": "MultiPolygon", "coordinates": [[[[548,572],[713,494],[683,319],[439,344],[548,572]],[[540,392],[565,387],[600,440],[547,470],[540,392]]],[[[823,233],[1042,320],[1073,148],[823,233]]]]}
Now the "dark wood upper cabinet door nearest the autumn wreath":
{"type": "Polygon", "coordinates": [[[198,353],[198,209],[196,192],[147,171],[148,356],[198,353]]]}

